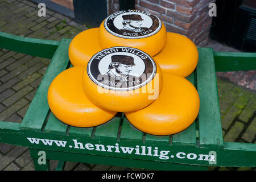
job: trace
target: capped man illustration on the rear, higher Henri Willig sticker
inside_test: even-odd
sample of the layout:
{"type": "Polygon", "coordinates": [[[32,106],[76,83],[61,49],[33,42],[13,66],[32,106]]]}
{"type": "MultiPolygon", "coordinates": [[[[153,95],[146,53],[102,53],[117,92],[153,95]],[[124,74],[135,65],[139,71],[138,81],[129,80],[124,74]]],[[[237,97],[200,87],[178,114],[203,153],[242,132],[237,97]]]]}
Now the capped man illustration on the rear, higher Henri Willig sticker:
{"type": "Polygon", "coordinates": [[[131,14],[123,15],[123,28],[121,30],[131,31],[131,32],[142,32],[148,30],[146,27],[142,27],[143,20],[141,15],[131,14]]]}

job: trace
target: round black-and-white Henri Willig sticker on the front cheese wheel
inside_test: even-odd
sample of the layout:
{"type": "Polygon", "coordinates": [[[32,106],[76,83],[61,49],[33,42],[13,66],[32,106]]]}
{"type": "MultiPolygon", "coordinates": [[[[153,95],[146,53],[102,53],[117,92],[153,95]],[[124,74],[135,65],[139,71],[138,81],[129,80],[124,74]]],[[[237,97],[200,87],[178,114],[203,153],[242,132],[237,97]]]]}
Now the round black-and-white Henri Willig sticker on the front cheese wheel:
{"type": "Polygon", "coordinates": [[[154,78],[156,64],[143,51],[131,47],[112,47],[94,55],[87,73],[97,85],[110,90],[134,90],[154,78]]]}

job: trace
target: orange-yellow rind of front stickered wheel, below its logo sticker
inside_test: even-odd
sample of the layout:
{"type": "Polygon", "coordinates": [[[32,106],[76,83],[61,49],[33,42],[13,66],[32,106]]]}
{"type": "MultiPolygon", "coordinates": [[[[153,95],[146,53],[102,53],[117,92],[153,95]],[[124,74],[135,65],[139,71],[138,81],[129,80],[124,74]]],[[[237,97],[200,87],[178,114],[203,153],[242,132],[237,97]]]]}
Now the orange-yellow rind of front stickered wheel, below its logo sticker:
{"type": "Polygon", "coordinates": [[[156,63],[156,74],[146,85],[128,91],[103,88],[95,84],[84,68],[82,84],[86,96],[102,109],[125,112],[142,109],[154,102],[162,90],[162,71],[156,63]]]}

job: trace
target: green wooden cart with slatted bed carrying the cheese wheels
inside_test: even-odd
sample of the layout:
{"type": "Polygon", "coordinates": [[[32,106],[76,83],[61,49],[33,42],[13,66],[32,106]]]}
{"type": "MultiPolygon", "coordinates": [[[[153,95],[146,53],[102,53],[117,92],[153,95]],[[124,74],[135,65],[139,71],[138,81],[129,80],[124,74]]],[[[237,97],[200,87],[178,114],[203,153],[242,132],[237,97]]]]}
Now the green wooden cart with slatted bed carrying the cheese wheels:
{"type": "Polygon", "coordinates": [[[0,121],[0,142],[29,147],[36,170],[48,170],[49,160],[59,160],[57,169],[62,169],[65,161],[159,170],[256,166],[256,144],[223,141],[216,84],[218,71],[256,69],[256,53],[198,48],[199,63],[187,79],[199,92],[199,115],[188,129],[160,137],[135,129],[123,113],[104,125],[89,128],[68,126],[55,118],[48,106],[47,91],[53,78],[72,67],[70,42],[0,32],[1,48],[51,59],[23,121],[0,121]]]}

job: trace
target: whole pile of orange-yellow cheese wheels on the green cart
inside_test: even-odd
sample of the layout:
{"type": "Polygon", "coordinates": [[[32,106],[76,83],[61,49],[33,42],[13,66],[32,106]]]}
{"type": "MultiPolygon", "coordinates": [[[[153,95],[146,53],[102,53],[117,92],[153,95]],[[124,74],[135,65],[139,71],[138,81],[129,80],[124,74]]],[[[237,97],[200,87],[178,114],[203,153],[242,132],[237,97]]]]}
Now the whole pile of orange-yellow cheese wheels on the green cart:
{"type": "Polygon", "coordinates": [[[68,125],[97,126],[124,112],[137,129],[170,135],[199,113],[197,90],[185,79],[196,68],[197,48],[151,13],[118,11],[76,35],[68,54],[74,67],[48,90],[52,113],[68,125]]]}

